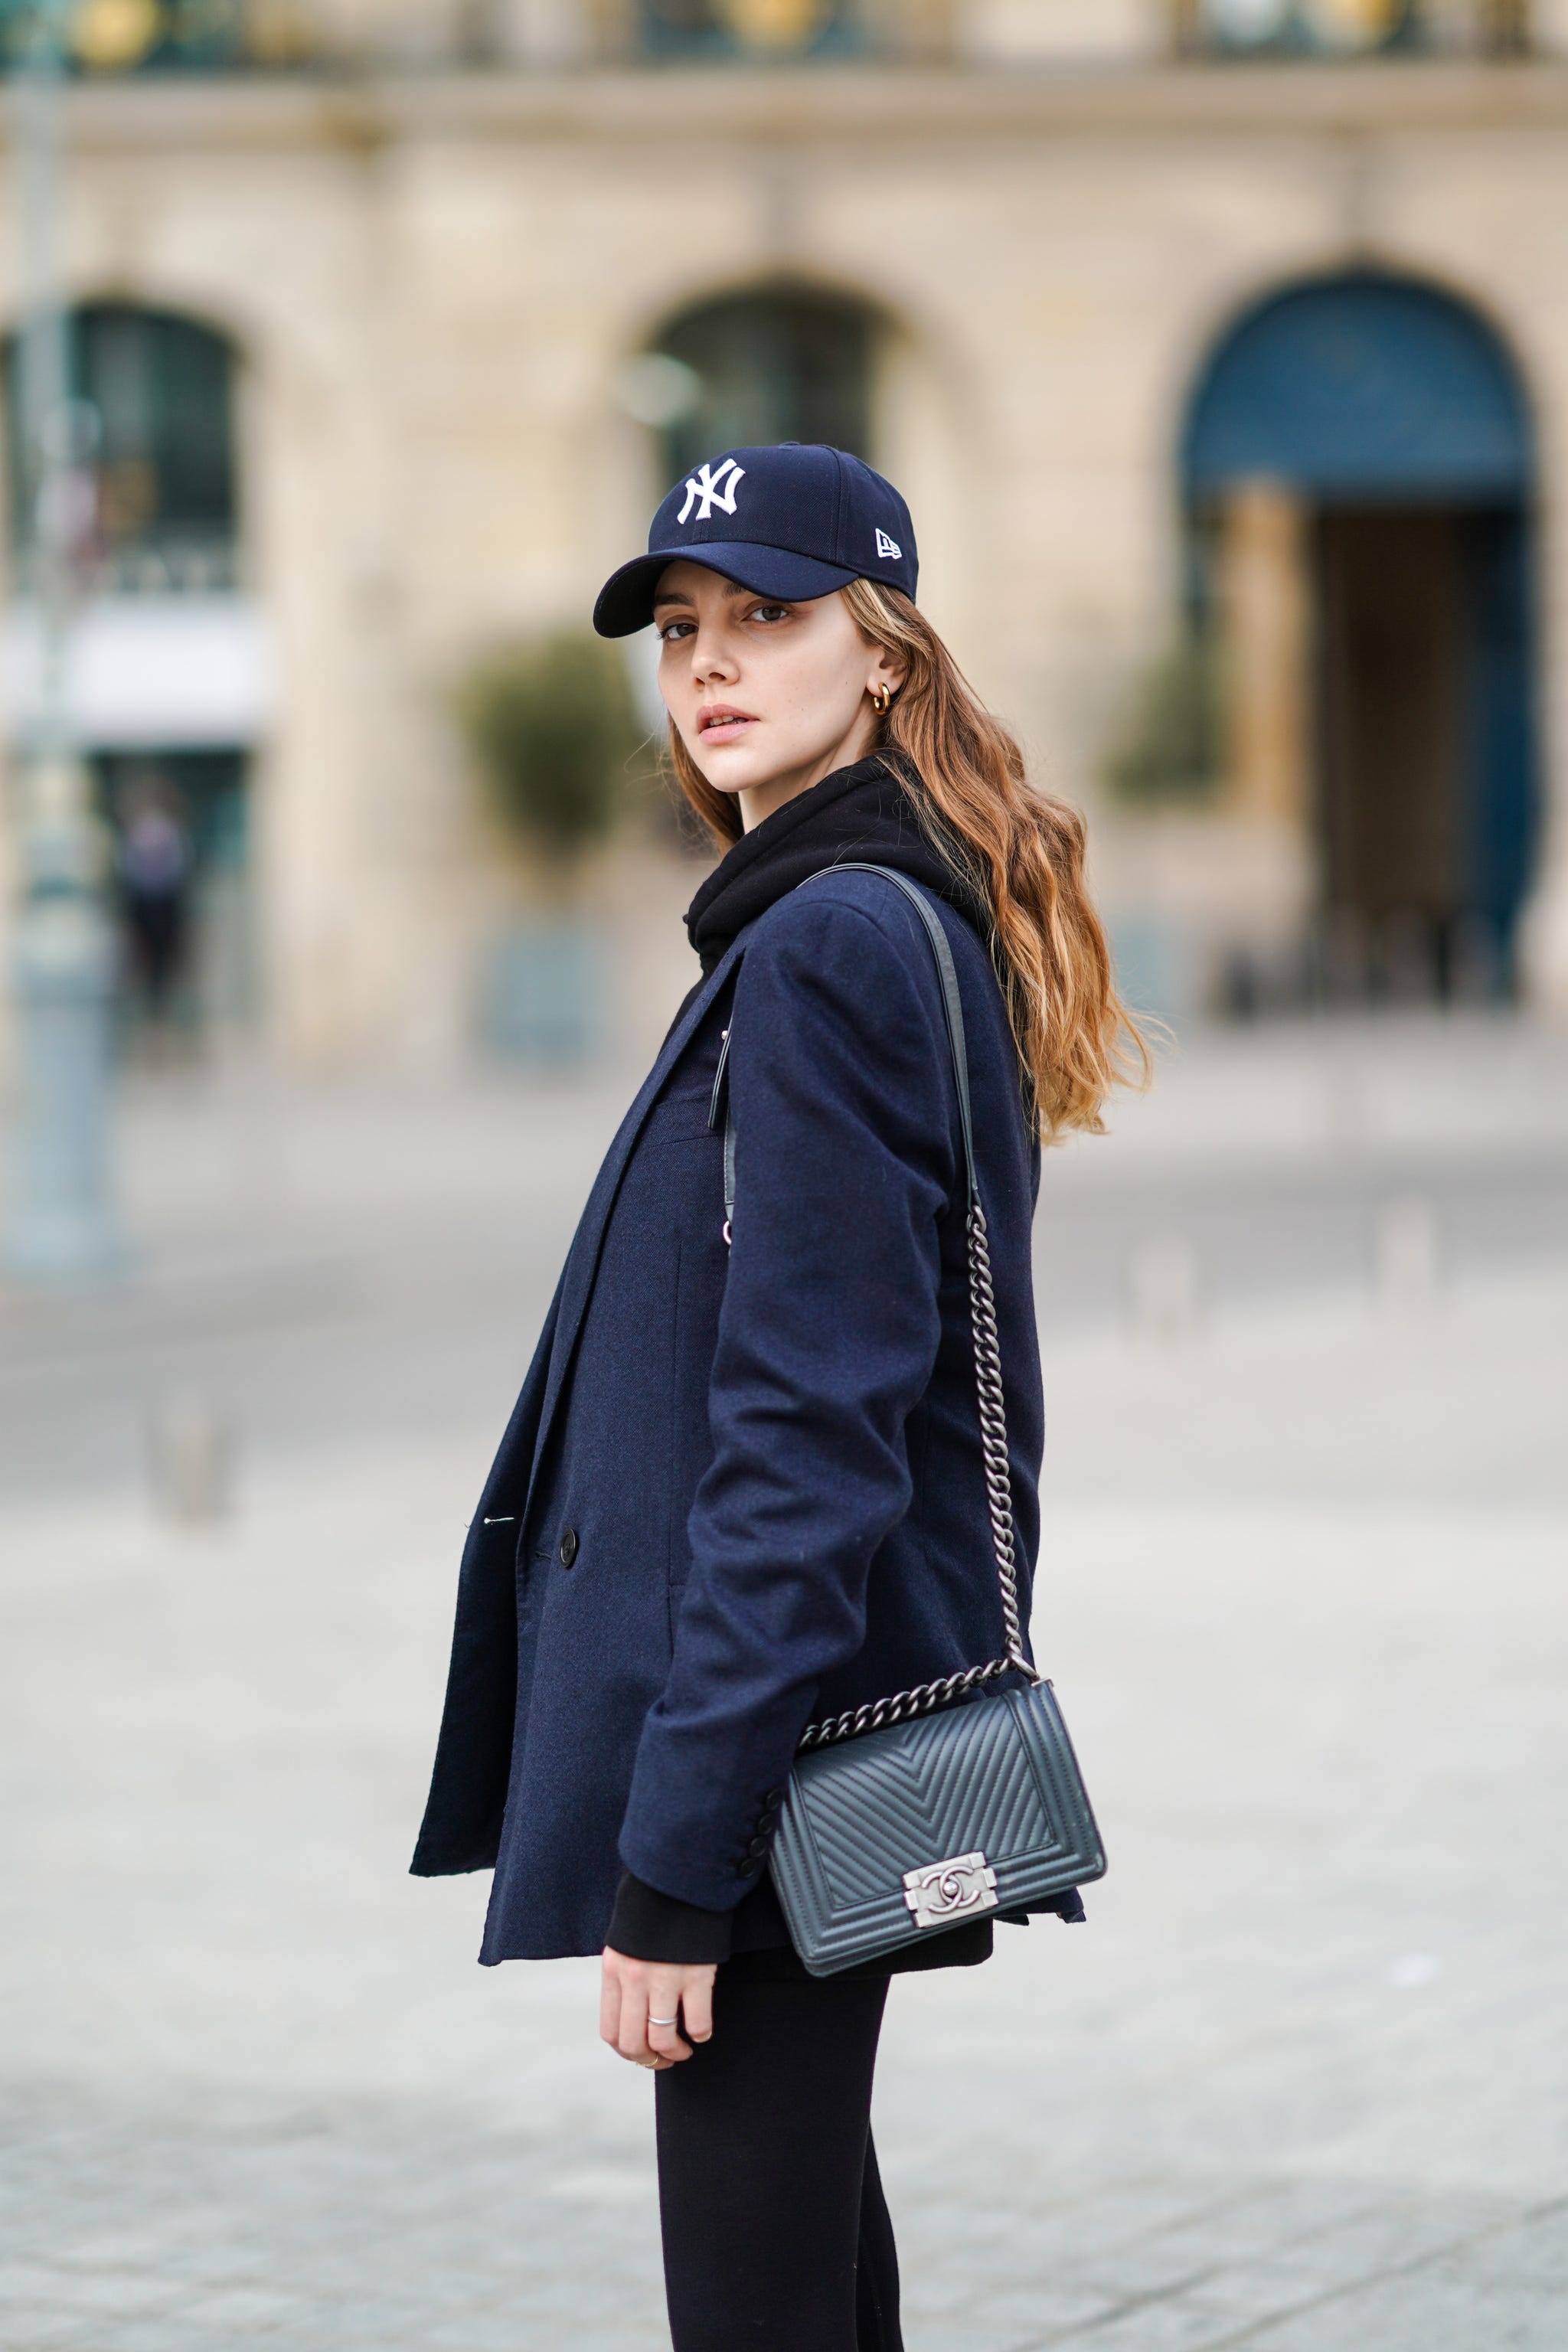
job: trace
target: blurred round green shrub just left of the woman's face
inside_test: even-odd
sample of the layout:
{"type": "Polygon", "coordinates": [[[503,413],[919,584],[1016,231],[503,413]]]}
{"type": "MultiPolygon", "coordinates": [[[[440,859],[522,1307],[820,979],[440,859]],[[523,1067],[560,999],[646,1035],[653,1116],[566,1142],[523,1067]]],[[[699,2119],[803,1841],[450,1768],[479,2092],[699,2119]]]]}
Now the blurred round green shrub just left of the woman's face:
{"type": "Polygon", "coordinates": [[[456,717],[496,816],[531,849],[569,863],[614,828],[644,727],[604,637],[498,647],[461,680],[456,717]]]}

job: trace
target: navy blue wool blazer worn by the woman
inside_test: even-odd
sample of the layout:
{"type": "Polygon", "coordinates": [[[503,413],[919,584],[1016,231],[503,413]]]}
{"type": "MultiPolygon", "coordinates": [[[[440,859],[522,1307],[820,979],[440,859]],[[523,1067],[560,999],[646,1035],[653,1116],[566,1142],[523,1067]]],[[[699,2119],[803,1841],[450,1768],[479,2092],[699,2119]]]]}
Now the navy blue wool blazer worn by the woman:
{"type": "MultiPolygon", "coordinates": [[[[1039,1150],[990,955],[938,913],[1027,1618],[1039,1150]]],[[[623,1865],[705,1910],[757,1900],[806,1722],[1001,1646],[936,964],[889,882],[827,870],[686,1004],[592,1185],[463,1552],[414,1870],[494,1863],[484,1962],[597,1952],[623,1865]],[[733,1249],[708,1124],[726,1021],[733,1249]]]]}

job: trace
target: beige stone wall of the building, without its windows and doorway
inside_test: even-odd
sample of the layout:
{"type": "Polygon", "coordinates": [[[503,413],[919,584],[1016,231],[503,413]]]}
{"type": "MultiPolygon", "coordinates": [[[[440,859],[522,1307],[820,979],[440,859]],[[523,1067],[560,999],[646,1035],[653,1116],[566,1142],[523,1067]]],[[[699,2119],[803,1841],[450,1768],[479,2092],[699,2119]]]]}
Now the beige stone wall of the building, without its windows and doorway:
{"type": "MultiPolygon", "coordinates": [[[[444,715],[463,659],[581,619],[658,489],[616,379],[656,325],[792,275],[889,320],[879,454],[924,602],[1088,804],[1173,604],[1182,402],[1232,313],[1380,261],[1476,303],[1540,430],[1547,748],[1568,746],[1568,73],[397,75],[71,103],[75,292],[244,355],[244,510],[282,701],[259,762],[268,997],[301,1056],[454,1051],[505,898],[444,715]],[[722,94],[722,106],[715,101],[722,94]]],[[[0,299],[16,285],[0,219],[0,299]]],[[[1128,922],[1208,938],[1126,818],[1128,922]]],[[[1237,866],[1251,906],[1253,849],[1237,866]],[[1251,858],[1251,863],[1248,863],[1251,858]]],[[[1213,898],[1213,858],[1199,858],[1213,898]]],[[[1225,870],[1225,861],[1220,861],[1225,870]]],[[[1568,1004],[1568,842],[1535,971],[1568,1004]]]]}

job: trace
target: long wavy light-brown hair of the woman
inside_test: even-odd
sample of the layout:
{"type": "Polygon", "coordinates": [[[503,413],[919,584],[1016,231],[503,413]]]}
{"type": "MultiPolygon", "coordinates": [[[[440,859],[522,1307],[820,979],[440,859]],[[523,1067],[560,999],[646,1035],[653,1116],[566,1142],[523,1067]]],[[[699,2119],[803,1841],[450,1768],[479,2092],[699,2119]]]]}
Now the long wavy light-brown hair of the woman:
{"type": "MultiPolygon", "coordinates": [[[[851,581],[842,595],[863,635],[905,666],[872,748],[896,755],[922,828],[990,913],[1039,1134],[1100,1134],[1110,1089],[1145,1087],[1152,1061],[1084,884],[1084,818],[1027,781],[1016,739],[903,590],[851,581]]],[[[703,779],[675,722],[670,762],[715,840],[738,842],[736,795],[703,779]]]]}

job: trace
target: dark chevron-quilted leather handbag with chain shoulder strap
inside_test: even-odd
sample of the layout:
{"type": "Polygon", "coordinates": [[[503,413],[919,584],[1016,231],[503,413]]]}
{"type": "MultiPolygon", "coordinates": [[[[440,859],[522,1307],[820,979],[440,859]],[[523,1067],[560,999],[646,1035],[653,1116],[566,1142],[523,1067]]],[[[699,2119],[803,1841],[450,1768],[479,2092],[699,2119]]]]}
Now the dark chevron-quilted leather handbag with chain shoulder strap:
{"type": "MultiPolygon", "coordinates": [[[[964,1009],[952,950],[926,896],[884,875],[917,910],[943,988],[969,1183],[969,1312],[980,1397],[985,1496],[1006,1651],[987,1665],[809,1724],[778,1813],[771,1875],[811,1976],[884,1959],[985,1912],[1051,1910],[1105,1875],[1105,1849],[1051,1684],[1023,1651],[1013,1559],[1001,1352],[985,1211],[976,1181],[964,1009]],[[1016,1675],[1009,1689],[990,1689],[1016,1675]],[[1023,1686],[1018,1686],[1023,1684],[1023,1686]]],[[[729,1035],[715,1082],[726,1101],[729,1035]]],[[[736,1129],[724,1115],[724,1237],[736,1204],[736,1129]]]]}

